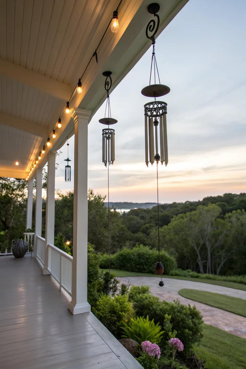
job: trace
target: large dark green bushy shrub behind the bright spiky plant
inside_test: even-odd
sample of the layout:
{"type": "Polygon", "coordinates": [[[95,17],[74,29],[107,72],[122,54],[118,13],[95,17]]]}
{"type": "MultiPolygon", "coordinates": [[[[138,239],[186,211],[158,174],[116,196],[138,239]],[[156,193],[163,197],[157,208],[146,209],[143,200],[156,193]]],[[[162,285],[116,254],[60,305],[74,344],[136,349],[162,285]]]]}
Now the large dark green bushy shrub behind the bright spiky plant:
{"type": "MultiPolygon", "coordinates": [[[[130,290],[131,292],[131,290],[130,290]]],[[[188,352],[193,345],[199,343],[202,338],[202,316],[195,306],[182,305],[179,300],[174,302],[159,301],[159,298],[152,294],[132,294],[133,308],[138,316],[149,316],[155,323],[160,323],[165,331],[162,346],[169,340],[166,316],[170,316],[171,329],[176,331],[176,337],[184,344],[184,351],[188,352]]]]}

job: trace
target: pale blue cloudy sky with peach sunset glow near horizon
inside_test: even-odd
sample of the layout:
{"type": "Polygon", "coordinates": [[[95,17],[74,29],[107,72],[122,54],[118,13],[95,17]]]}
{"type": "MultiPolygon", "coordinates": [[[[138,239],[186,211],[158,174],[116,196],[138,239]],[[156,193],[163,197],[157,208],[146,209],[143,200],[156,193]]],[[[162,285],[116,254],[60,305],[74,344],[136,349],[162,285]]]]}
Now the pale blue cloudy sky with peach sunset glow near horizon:
{"type": "MultiPolygon", "coordinates": [[[[160,82],[167,103],[169,163],[159,166],[159,201],[198,200],[245,192],[246,179],[246,1],[190,0],[156,40],[160,82]]],[[[152,48],[110,94],[115,162],[110,166],[110,201],[156,202],[156,165],[145,165],[141,94],[149,84],[152,48]]],[[[114,72],[114,71],[112,71],[114,72]]],[[[114,74],[112,74],[114,82],[114,74]]],[[[89,124],[88,187],[107,193],[101,160],[105,103],[89,124]]],[[[73,189],[74,137],[69,139],[72,181],[65,183],[57,157],[56,189],[73,189]]]]}

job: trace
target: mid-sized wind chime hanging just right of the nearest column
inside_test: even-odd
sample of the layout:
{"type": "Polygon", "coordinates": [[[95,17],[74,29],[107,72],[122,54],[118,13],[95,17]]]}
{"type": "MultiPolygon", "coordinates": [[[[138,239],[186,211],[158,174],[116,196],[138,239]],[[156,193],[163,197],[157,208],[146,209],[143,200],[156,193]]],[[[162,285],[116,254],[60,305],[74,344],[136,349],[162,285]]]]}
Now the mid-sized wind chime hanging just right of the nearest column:
{"type": "Polygon", "coordinates": [[[115,151],[114,151],[114,135],[115,132],[112,128],[109,128],[110,125],[117,123],[117,120],[111,118],[111,110],[110,110],[110,100],[109,100],[109,90],[112,86],[111,79],[112,72],[103,72],[103,76],[106,77],[104,88],[107,92],[107,101],[105,108],[104,118],[99,120],[99,123],[105,124],[108,128],[104,128],[102,131],[103,136],[103,163],[105,167],[108,165],[108,270],[110,272],[110,209],[109,209],[109,166],[110,164],[114,164],[115,161],[115,151]],[[106,117],[106,113],[108,117],[106,117]]]}

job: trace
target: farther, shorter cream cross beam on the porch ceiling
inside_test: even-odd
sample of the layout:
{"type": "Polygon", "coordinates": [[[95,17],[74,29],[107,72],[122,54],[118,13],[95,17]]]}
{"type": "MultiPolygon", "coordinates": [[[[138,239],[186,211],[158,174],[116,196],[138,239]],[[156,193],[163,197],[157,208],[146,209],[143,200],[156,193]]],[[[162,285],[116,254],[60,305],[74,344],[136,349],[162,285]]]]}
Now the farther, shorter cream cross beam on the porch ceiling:
{"type": "Polygon", "coordinates": [[[0,111],[0,124],[8,127],[16,128],[17,130],[31,133],[32,135],[46,138],[48,136],[48,128],[28,120],[14,117],[0,111]]]}

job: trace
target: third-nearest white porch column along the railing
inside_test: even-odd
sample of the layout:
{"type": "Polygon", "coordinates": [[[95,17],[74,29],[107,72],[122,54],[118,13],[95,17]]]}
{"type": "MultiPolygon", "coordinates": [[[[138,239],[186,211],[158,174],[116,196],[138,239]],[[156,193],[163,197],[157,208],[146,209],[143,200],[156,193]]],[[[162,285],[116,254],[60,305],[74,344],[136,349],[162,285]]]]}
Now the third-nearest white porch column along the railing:
{"type": "Polygon", "coordinates": [[[42,234],[42,170],[36,169],[34,258],[37,256],[37,236],[41,237],[42,234]]]}

